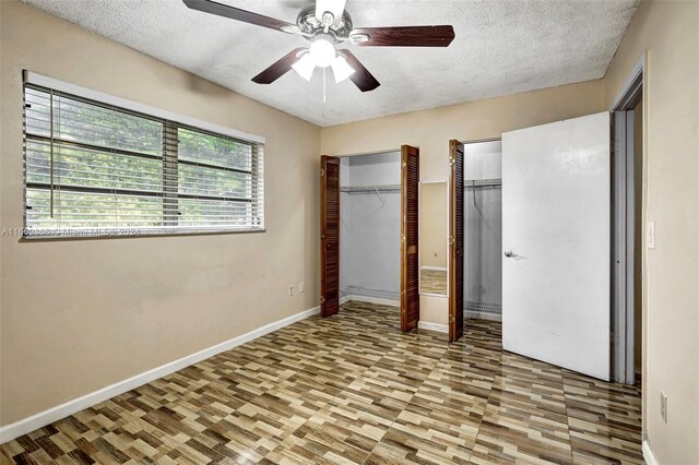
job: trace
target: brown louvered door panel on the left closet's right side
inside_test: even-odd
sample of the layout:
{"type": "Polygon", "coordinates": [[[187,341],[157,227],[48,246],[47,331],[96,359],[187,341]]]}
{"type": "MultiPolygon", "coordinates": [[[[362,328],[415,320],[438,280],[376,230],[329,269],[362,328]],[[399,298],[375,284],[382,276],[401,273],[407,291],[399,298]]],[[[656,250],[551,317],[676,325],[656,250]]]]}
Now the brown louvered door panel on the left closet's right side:
{"type": "Polygon", "coordinates": [[[419,151],[401,147],[401,331],[419,321],[419,151]]]}

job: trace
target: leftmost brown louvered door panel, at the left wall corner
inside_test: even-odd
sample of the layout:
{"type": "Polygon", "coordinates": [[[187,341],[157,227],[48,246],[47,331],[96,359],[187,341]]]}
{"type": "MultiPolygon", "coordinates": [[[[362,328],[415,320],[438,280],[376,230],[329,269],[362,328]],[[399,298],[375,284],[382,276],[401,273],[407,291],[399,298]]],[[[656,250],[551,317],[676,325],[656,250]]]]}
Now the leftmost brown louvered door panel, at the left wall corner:
{"type": "Polygon", "coordinates": [[[320,315],[340,310],[340,158],[320,158],[320,315]]]}

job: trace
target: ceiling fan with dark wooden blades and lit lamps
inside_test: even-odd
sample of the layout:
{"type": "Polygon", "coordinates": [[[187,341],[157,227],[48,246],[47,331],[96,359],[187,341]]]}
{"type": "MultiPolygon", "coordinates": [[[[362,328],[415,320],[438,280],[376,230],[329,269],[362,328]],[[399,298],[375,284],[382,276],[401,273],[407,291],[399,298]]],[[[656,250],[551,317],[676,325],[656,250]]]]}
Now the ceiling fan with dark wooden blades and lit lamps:
{"type": "Polygon", "coordinates": [[[296,24],[212,0],[182,1],[192,10],[299,35],[311,43],[309,47],[289,51],[252,78],[258,84],[271,84],[292,69],[310,81],[316,67],[331,67],[336,83],[348,78],[362,92],[374,91],[380,85],[376,78],[352,51],[335,46],[348,43],[360,47],[448,47],[454,39],[452,26],[353,28],[352,17],[345,11],[346,0],[317,0],[301,9],[296,24]]]}

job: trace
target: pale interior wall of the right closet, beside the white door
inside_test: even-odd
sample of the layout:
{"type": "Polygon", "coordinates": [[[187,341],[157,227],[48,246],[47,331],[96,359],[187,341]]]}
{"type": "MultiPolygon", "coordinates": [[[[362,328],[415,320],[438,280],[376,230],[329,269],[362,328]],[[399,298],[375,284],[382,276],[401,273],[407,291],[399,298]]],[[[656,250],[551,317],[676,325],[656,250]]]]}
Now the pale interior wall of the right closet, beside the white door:
{"type": "Polygon", "coordinates": [[[464,313],[502,320],[500,141],[464,145],[464,313]]]}

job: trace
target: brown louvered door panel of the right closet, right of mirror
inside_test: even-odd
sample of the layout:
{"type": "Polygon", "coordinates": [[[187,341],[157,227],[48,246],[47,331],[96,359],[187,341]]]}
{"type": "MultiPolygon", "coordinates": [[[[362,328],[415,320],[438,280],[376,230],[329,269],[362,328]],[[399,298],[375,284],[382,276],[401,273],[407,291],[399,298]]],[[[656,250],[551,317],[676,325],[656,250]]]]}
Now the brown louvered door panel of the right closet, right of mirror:
{"type": "Polygon", "coordinates": [[[463,335],[463,144],[449,142],[449,341],[463,335]]]}

